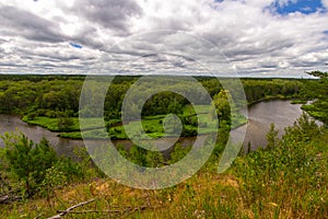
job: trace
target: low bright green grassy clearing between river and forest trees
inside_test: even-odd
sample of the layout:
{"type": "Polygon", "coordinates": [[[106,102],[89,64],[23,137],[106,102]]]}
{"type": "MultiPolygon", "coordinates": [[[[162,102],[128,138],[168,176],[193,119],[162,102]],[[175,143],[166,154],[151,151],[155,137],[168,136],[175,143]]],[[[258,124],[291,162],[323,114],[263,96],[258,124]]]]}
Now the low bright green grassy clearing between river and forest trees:
{"type": "MultiPolygon", "coordinates": [[[[196,136],[197,134],[204,135],[204,134],[215,132],[216,127],[215,124],[213,123],[213,119],[211,118],[210,115],[206,114],[208,112],[208,106],[198,105],[195,107],[200,112],[198,116],[195,114],[195,110],[191,105],[186,106],[184,108],[183,114],[179,115],[181,123],[187,123],[184,124],[184,131],[181,135],[187,137],[187,136],[196,136]],[[198,123],[200,129],[198,129],[198,123]]],[[[166,115],[144,116],[141,120],[144,132],[152,138],[165,137],[164,125],[163,125],[165,116],[166,115]]],[[[232,124],[232,128],[235,128],[247,122],[247,119],[241,114],[234,114],[233,116],[234,116],[233,117],[234,123],[232,124]]],[[[24,120],[27,122],[28,124],[43,126],[52,131],[63,131],[58,126],[59,118],[36,117],[35,119],[27,120],[25,118],[24,120]]],[[[80,132],[79,119],[72,118],[72,120],[73,124],[68,128],[69,131],[63,131],[59,134],[59,136],[63,138],[82,139],[80,132]]],[[[119,119],[110,119],[105,122],[105,126],[108,129],[107,134],[103,131],[102,126],[104,125],[104,123],[99,122],[99,119],[97,118],[84,118],[83,124],[85,124],[84,125],[85,127],[83,127],[84,129],[83,136],[85,138],[107,139],[109,136],[112,139],[128,139],[125,128],[120,124],[119,119]]],[[[140,136],[138,124],[139,122],[130,122],[125,126],[130,130],[132,130],[132,132],[134,132],[133,135],[140,136]]]]}

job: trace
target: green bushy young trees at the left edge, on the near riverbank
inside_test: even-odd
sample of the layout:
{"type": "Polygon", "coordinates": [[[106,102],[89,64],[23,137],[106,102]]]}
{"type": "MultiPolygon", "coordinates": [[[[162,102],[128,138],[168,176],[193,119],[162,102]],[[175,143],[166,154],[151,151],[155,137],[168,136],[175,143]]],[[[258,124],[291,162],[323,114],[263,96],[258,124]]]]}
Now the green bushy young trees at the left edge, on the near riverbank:
{"type": "Polygon", "coordinates": [[[22,132],[5,132],[1,138],[5,143],[5,148],[0,150],[2,192],[13,186],[24,197],[31,197],[37,192],[47,195],[47,192],[62,185],[65,177],[74,182],[85,178],[87,174],[97,174],[91,173],[94,170],[91,159],[82,149],[75,152],[79,162],[73,162],[71,158],[58,158],[45,138],[39,143],[34,143],[22,132]]]}

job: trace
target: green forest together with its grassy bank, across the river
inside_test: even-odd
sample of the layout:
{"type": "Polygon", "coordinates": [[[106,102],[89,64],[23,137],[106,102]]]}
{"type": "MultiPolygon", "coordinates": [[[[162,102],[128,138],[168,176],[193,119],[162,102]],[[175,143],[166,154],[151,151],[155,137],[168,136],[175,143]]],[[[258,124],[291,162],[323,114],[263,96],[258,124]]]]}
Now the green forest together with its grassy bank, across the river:
{"type": "MultiPolygon", "coordinates": [[[[131,85],[140,77],[115,77],[110,87],[108,88],[105,103],[104,103],[104,118],[105,125],[108,131],[108,136],[112,139],[127,139],[125,129],[121,126],[121,106],[125,99],[125,94],[131,88],[131,85]]],[[[90,96],[90,107],[79,110],[79,101],[81,95],[81,89],[84,82],[84,77],[80,76],[14,76],[10,79],[9,76],[0,77],[0,112],[2,113],[16,113],[22,116],[22,119],[28,124],[39,125],[48,128],[52,131],[60,131],[61,137],[68,138],[81,138],[79,113],[81,115],[87,114],[90,117],[91,129],[86,131],[84,136],[91,136],[96,138],[104,138],[96,131],[99,127],[94,123],[96,110],[92,108],[92,105],[96,105],[93,101],[97,101],[97,96],[90,96]],[[93,113],[95,114],[93,115],[93,113]]],[[[216,78],[196,78],[202,87],[208,91],[213,99],[213,103],[216,107],[216,114],[219,120],[224,120],[225,124],[232,126],[232,128],[246,123],[246,119],[238,115],[238,113],[232,114],[232,111],[238,112],[243,103],[236,102],[234,106],[230,107],[229,95],[223,90],[222,84],[216,78]],[[231,124],[231,115],[235,116],[233,120],[235,124],[231,124]]],[[[94,77],[95,85],[92,89],[92,93],[97,94],[97,89],[102,87],[102,77],[94,77]]],[[[173,83],[162,84],[159,80],[159,87],[164,88],[184,88],[184,90],[192,93],[194,87],[188,83],[173,83]]],[[[221,79],[227,82],[234,83],[233,79],[221,79]]],[[[303,80],[283,80],[283,79],[243,79],[243,85],[248,104],[257,101],[269,99],[301,99],[304,81],[303,80]]],[[[137,94],[144,93],[145,85],[140,85],[137,94]]],[[[309,96],[308,96],[309,97],[309,96]]],[[[202,96],[196,97],[200,100],[201,104],[209,105],[210,103],[201,103],[202,96]]],[[[138,103],[131,103],[129,111],[133,113],[138,103]]],[[[152,137],[163,137],[163,119],[165,115],[172,113],[177,114],[184,122],[183,136],[197,135],[197,115],[195,108],[184,96],[166,91],[152,95],[143,105],[142,117],[143,126],[148,135],[152,137]]],[[[131,113],[131,114],[132,114],[131,113]]],[[[131,118],[133,120],[133,118],[131,118]]],[[[209,118],[210,119],[210,118],[209,118]]],[[[210,126],[209,119],[203,118],[203,126],[210,126]]],[[[133,126],[133,124],[131,124],[133,126]]],[[[200,124],[201,125],[201,124],[200,124]]],[[[211,132],[211,128],[206,130],[211,132]]]]}

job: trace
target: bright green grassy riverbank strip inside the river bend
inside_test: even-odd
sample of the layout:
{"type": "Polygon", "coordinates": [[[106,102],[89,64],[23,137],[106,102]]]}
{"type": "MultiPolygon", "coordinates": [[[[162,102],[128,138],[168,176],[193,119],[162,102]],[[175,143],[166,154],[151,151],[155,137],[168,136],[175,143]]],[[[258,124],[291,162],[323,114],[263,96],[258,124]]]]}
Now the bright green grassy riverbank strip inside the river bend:
{"type": "MultiPolygon", "coordinates": [[[[202,106],[197,106],[202,107],[202,106]]],[[[187,107],[186,107],[187,108],[187,107]]],[[[197,135],[207,135],[211,132],[218,131],[212,127],[212,120],[207,114],[190,114],[189,110],[185,110],[184,114],[180,115],[180,118],[184,123],[181,137],[195,137],[197,135]],[[201,120],[200,132],[198,134],[198,123],[197,118],[201,120]]],[[[67,117],[65,119],[69,119],[69,125],[65,127],[60,127],[60,122],[62,118],[50,118],[46,116],[36,116],[34,118],[28,118],[27,116],[23,116],[22,120],[30,125],[36,125],[44,127],[50,131],[58,132],[58,137],[68,138],[68,139],[82,139],[79,118],[78,117],[67,117]]],[[[145,116],[142,119],[142,126],[148,136],[152,138],[163,138],[164,136],[164,127],[163,122],[165,119],[165,115],[157,116],[145,116]]],[[[242,126],[247,123],[247,118],[245,118],[242,114],[234,114],[233,117],[232,129],[242,126]]],[[[137,122],[131,122],[126,126],[130,126],[130,128],[134,128],[138,125],[137,122]]],[[[105,122],[105,127],[107,132],[104,132],[99,119],[97,118],[85,118],[86,127],[83,127],[83,137],[85,139],[107,139],[108,137],[113,140],[127,140],[129,139],[125,132],[125,128],[119,119],[110,119],[105,122]]]]}

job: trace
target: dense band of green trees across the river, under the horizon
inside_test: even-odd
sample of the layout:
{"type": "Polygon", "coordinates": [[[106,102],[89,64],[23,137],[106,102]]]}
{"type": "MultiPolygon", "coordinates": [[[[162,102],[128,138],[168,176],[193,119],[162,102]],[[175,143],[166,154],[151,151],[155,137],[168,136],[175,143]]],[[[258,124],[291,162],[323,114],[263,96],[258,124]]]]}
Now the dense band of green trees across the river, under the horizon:
{"type": "MultiPolygon", "coordinates": [[[[35,116],[62,117],[63,114],[77,117],[83,79],[82,76],[1,76],[0,111],[30,115],[31,118],[35,116]]],[[[137,79],[138,77],[115,77],[105,99],[105,116],[120,118],[125,94],[137,79]]],[[[198,80],[211,97],[223,89],[218,79],[198,78],[198,80]]],[[[98,81],[98,83],[102,82],[98,81]]],[[[162,85],[160,79],[159,85],[162,85]]],[[[249,103],[268,96],[292,97],[300,94],[303,89],[302,81],[284,79],[243,79],[243,85],[249,103]]],[[[181,87],[181,84],[172,85],[173,89],[175,89],[174,87],[181,87]]],[[[177,88],[177,90],[180,89],[177,88]]],[[[192,92],[195,88],[183,84],[183,89],[190,89],[192,92]]],[[[138,92],[144,92],[143,87],[138,92]]],[[[201,97],[199,96],[199,99],[201,97]]],[[[161,92],[147,101],[142,115],[181,112],[187,104],[189,104],[188,100],[179,94],[161,92]]]]}

